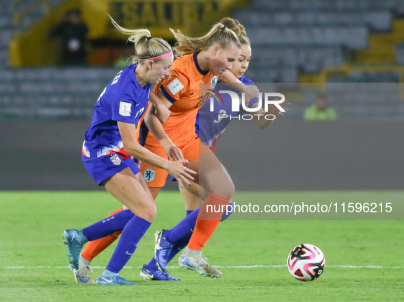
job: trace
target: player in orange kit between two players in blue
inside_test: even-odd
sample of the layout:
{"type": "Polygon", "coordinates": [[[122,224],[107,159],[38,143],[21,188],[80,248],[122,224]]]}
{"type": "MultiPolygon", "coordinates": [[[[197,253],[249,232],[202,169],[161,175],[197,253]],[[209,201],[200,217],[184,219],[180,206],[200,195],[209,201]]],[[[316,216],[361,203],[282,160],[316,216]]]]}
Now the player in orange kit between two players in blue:
{"type": "MultiPolygon", "coordinates": [[[[204,155],[205,158],[208,157],[206,161],[209,162],[209,165],[204,168],[210,169],[210,172],[204,173],[205,175],[203,175],[202,181],[206,183],[207,190],[213,193],[219,193],[206,194],[208,202],[216,202],[226,205],[228,201],[230,201],[232,192],[234,192],[232,181],[211,150],[205,144],[199,142],[198,136],[195,133],[195,125],[199,103],[201,99],[205,97],[204,95],[202,95],[201,98],[199,97],[199,95],[201,95],[201,93],[199,93],[199,84],[213,83],[211,87],[214,87],[214,84],[217,81],[217,76],[214,74],[220,75],[224,73],[226,69],[231,68],[232,63],[237,59],[240,51],[239,40],[234,37],[234,33],[230,31],[230,29],[222,24],[215,25],[215,27],[211,29],[211,32],[201,38],[187,38],[182,34],[174,34],[176,35],[179,44],[176,51],[183,56],[174,61],[172,66],[173,77],[170,79],[163,79],[160,90],[157,90],[159,97],[172,111],[170,118],[168,118],[167,122],[163,124],[163,129],[167,132],[168,138],[163,137],[165,134],[161,129],[160,133],[162,135],[160,136],[159,133],[156,135],[159,140],[150,134],[150,132],[156,134],[154,125],[150,125],[152,124],[150,119],[154,117],[151,116],[150,118],[150,115],[146,114],[145,120],[141,121],[141,126],[139,127],[139,142],[153,153],[159,154],[163,157],[168,155],[167,157],[178,159],[181,156],[180,153],[170,153],[170,151],[165,151],[167,149],[167,147],[165,147],[166,142],[170,143],[172,141],[180,148],[180,151],[185,155],[185,158],[193,161],[191,164],[194,169],[198,168],[198,158],[200,156],[204,155]],[[147,127],[146,123],[149,127],[147,127]],[[161,144],[159,144],[159,142],[161,144]],[[161,147],[161,145],[163,145],[163,147],[161,147]]],[[[226,73],[230,72],[226,71],[226,73]]],[[[231,73],[230,76],[226,76],[230,78],[228,81],[239,82],[239,80],[231,73]]],[[[159,88],[159,86],[157,86],[157,88],[159,88]]],[[[252,94],[251,90],[256,92],[254,87],[251,86],[248,88],[250,88],[250,90],[245,91],[249,92],[250,95],[252,94]]],[[[159,125],[157,125],[157,127],[159,127],[159,125]]],[[[158,131],[159,130],[157,129],[157,132],[158,131]]],[[[154,167],[148,166],[144,162],[139,162],[139,167],[144,173],[144,178],[148,181],[148,186],[153,197],[157,197],[160,188],[165,184],[167,173],[161,169],[155,169],[154,167]]],[[[193,186],[196,185],[194,184],[193,186]]],[[[196,194],[198,195],[198,192],[196,194]]],[[[196,205],[196,207],[198,206],[199,205],[196,205]]],[[[187,214],[196,207],[190,209],[187,206],[187,214]]],[[[193,225],[195,225],[197,217],[198,212],[193,213],[192,216],[189,216],[189,218],[186,219],[187,221],[193,222],[193,225]]],[[[215,225],[217,225],[216,221],[200,220],[199,226],[197,225],[195,228],[196,233],[199,232],[200,236],[196,240],[197,247],[195,252],[191,251],[191,253],[195,254],[196,258],[198,258],[198,262],[203,263],[203,273],[219,276],[221,275],[219,270],[209,266],[200,252],[201,245],[204,245],[204,241],[207,241],[208,237],[213,233],[215,225]],[[202,240],[202,244],[198,247],[199,240],[202,240]]],[[[189,231],[189,227],[186,228],[187,231],[189,231]]],[[[117,236],[118,234],[114,235],[115,238],[117,236]]],[[[95,255],[98,255],[100,251],[105,249],[105,247],[115,240],[114,237],[109,236],[109,238],[98,240],[98,242],[91,242],[91,244],[89,244],[83,251],[83,267],[86,266],[87,270],[89,270],[88,265],[90,264],[90,261],[85,262],[85,260],[92,260],[95,255]]],[[[163,248],[164,243],[161,241],[165,240],[164,238],[165,236],[161,236],[161,234],[159,234],[157,238],[161,251],[167,251],[167,249],[163,248]]],[[[165,266],[162,269],[163,273],[159,273],[156,262],[154,262],[154,264],[150,262],[147,268],[144,266],[142,272],[143,271],[145,275],[148,274],[149,276],[152,276],[152,279],[176,280],[165,273],[165,266]]]]}

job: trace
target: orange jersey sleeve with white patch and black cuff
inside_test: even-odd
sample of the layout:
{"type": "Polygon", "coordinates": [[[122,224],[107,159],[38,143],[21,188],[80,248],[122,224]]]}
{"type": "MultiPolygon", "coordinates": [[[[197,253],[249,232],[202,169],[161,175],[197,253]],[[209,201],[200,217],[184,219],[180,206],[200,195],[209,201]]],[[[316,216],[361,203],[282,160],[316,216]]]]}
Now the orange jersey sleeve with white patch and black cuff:
{"type": "Polygon", "coordinates": [[[173,104],[189,90],[188,88],[189,79],[179,68],[173,69],[171,77],[163,79],[160,86],[163,95],[173,104]]]}

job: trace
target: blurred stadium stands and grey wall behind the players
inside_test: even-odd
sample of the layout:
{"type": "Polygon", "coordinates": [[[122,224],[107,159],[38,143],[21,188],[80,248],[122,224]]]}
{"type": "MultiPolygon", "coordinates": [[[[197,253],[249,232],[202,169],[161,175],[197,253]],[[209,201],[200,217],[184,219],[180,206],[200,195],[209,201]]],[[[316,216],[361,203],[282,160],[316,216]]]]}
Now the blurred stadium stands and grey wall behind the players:
{"type": "MultiPolygon", "coordinates": [[[[286,91],[292,105],[265,140],[239,139],[254,131],[250,123],[228,128],[217,155],[238,189],[403,188],[403,1],[1,0],[0,190],[97,190],[80,149],[94,102],[117,73],[112,65],[124,47],[107,14],[125,27],[148,27],[167,39],[168,27],[197,35],[232,16],[252,41],[247,77],[315,84],[286,91]],[[90,28],[85,67],[60,66],[58,41],[47,38],[72,8],[81,9],[90,28]],[[338,83],[355,93],[328,98],[337,121],[304,121],[315,91],[338,83]],[[267,158],[248,184],[234,164],[242,166],[242,156],[230,152],[237,142],[239,155],[260,145],[250,162],[267,158]],[[260,177],[265,171],[276,173],[260,177]]],[[[166,189],[175,188],[167,182],[166,189]]]]}

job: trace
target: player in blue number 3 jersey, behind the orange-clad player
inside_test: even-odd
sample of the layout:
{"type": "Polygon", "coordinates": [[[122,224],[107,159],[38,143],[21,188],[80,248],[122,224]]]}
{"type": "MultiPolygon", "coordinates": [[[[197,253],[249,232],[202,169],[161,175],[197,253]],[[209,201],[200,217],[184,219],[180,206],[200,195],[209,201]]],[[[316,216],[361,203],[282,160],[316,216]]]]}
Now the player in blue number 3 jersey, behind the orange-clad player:
{"type": "MultiPolygon", "coordinates": [[[[250,80],[247,79],[244,76],[245,71],[247,71],[252,51],[251,51],[251,46],[250,46],[250,40],[247,38],[247,34],[245,33],[245,29],[243,25],[238,23],[238,21],[234,21],[232,18],[224,18],[220,21],[220,23],[225,24],[228,28],[233,29],[234,32],[239,32],[239,40],[241,42],[241,53],[239,54],[239,58],[237,58],[237,61],[232,64],[231,68],[231,73],[241,83],[247,84],[247,85],[253,85],[254,83],[250,80]],[[236,30],[237,29],[237,30],[236,30]]],[[[225,79],[224,77],[228,77],[228,75],[225,73],[223,77],[220,78],[219,81],[229,81],[228,79],[225,79]]],[[[230,80],[232,81],[232,80],[230,80]]],[[[234,82],[234,81],[232,81],[234,82]]],[[[234,85],[233,85],[234,86],[234,85]]],[[[239,92],[242,88],[241,85],[237,84],[234,86],[234,88],[229,88],[228,84],[221,84],[219,83],[218,86],[216,86],[215,90],[233,90],[234,92],[239,92]],[[237,89],[238,88],[238,89],[237,89]]],[[[234,116],[237,114],[242,114],[243,109],[241,108],[240,105],[240,112],[232,112],[232,103],[230,100],[230,96],[227,94],[222,95],[224,97],[224,103],[221,104],[221,106],[215,106],[214,111],[211,112],[210,109],[210,103],[205,103],[202,105],[202,107],[198,111],[198,117],[196,119],[196,133],[198,134],[200,140],[207,145],[208,147],[211,148],[212,151],[215,150],[215,144],[221,134],[225,131],[228,123],[230,123],[231,119],[230,116],[234,116]],[[227,98],[226,98],[227,96],[227,98]],[[221,118],[219,119],[218,116],[219,114],[227,114],[227,118],[221,118]]],[[[259,105],[258,99],[252,99],[248,103],[249,108],[257,108],[259,105]]],[[[290,103],[284,102],[282,103],[282,107],[288,106],[290,103]]],[[[285,109],[287,111],[287,109],[285,109]]],[[[244,112],[245,113],[245,112],[244,112]]],[[[257,112],[254,112],[254,121],[256,125],[260,129],[264,129],[268,125],[271,124],[273,119],[265,119],[262,118],[265,114],[273,114],[274,116],[279,115],[282,116],[283,114],[278,110],[278,108],[275,107],[275,105],[271,105],[269,107],[269,112],[264,112],[262,108],[258,110],[257,112]],[[261,118],[258,118],[258,116],[261,116],[261,118]]],[[[203,159],[203,164],[206,165],[206,160],[203,159]]],[[[200,177],[204,175],[205,167],[203,170],[203,173],[200,173],[200,177]]],[[[194,210],[197,209],[200,205],[199,201],[199,196],[202,194],[198,194],[198,185],[193,184],[191,187],[193,190],[184,190],[180,188],[180,192],[183,195],[183,199],[185,201],[185,204],[187,206],[187,210],[194,210]]],[[[202,209],[203,210],[203,209],[202,209]]],[[[187,211],[189,212],[189,211],[187,211]]],[[[146,266],[144,266],[141,270],[141,276],[142,277],[147,277],[147,275],[150,276],[150,272],[152,272],[155,269],[156,262],[157,266],[161,268],[162,270],[165,270],[165,266],[167,266],[167,263],[172,260],[172,258],[180,251],[182,250],[186,245],[187,242],[190,240],[190,244],[188,245],[188,248],[185,249],[183,255],[180,256],[179,259],[179,264],[181,267],[189,268],[192,270],[198,271],[198,273],[204,274],[204,275],[210,275],[211,277],[218,277],[217,275],[213,274],[208,274],[206,272],[203,272],[202,269],[200,268],[195,268],[195,266],[190,266],[188,264],[189,262],[189,247],[191,245],[191,242],[193,240],[193,227],[195,225],[195,222],[193,221],[193,218],[198,216],[198,213],[200,212],[200,209],[194,210],[191,214],[189,214],[181,223],[176,225],[171,230],[159,230],[157,231],[157,244],[156,244],[156,251],[155,251],[155,259],[151,260],[146,266]],[[163,239],[159,239],[159,238],[163,239]],[[149,272],[149,273],[148,273],[149,272]]],[[[226,216],[221,217],[221,220],[226,218],[226,216]]],[[[201,262],[202,263],[202,262],[201,262]]],[[[220,274],[221,275],[221,274],[220,274]]]]}

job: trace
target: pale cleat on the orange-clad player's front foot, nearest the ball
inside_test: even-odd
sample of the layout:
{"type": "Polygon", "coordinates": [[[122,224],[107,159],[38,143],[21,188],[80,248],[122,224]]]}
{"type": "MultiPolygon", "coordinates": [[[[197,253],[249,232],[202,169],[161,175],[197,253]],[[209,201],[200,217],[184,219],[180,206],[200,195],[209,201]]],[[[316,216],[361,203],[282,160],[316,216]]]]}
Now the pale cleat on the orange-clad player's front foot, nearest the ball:
{"type": "Polygon", "coordinates": [[[188,270],[195,270],[201,275],[205,275],[206,277],[217,277],[219,278],[222,274],[220,270],[212,267],[208,262],[206,262],[208,258],[205,258],[201,255],[196,255],[193,253],[189,253],[189,249],[185,249],[184,253],[180,255],[180,259],[178,260],[178,264],[180,267],[187,268],[188,270]]]}

